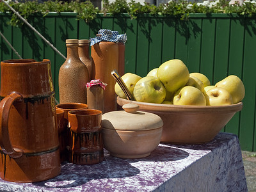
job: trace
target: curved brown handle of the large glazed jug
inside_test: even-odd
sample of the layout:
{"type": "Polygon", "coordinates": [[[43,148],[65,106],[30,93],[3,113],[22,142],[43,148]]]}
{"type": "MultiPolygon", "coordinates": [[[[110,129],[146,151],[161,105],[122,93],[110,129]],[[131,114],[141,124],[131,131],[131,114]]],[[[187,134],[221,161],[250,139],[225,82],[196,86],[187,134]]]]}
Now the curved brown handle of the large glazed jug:
{"type": "Polygon", "coordinates": [[[22,156],[22,152],[13,149],[8,131],[9,113],[15,100],[23,100],[22,95],[12,92],[0,102],[0,145],[4,154],[8,154],[12,158],[19,158],[22,156]]]}

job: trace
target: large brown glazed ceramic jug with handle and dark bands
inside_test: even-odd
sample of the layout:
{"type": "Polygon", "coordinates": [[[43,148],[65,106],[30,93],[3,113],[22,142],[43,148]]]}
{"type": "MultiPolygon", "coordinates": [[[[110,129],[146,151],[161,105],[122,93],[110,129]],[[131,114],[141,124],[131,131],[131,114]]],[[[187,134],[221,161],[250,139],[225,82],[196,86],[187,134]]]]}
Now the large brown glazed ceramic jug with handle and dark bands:
{"type": "Polygon", "coordinates": [[[2,61],[0,96],[1,178],[37,182],[59,175],[51,62],[2,61]]]}

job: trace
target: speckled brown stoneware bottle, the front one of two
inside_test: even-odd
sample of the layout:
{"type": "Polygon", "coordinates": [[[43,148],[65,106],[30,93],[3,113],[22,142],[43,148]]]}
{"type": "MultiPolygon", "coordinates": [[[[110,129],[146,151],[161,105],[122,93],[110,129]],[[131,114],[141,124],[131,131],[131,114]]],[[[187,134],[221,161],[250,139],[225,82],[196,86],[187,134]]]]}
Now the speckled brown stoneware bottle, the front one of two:
{"type": "Polygon", "coordinates": [[[67,59],[59,72],[60,103],[87,103],[86,83],[90,81],[86,65],[79,59],[78,40],[67,39],[67,59]]]}

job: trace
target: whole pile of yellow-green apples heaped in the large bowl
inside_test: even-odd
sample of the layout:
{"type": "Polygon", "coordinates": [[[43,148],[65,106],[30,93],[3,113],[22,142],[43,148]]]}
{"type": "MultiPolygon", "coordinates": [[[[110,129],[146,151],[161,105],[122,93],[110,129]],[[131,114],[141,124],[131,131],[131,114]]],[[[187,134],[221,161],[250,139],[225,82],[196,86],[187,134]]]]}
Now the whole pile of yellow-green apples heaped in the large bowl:
{"type": "MultiPolygon", "coordinates": [[[[212,85],[201,73],[189,70],[181,60],[169,60],[148,72],[146,77],[126,73],[124,83],[136,101],[157,104],[221,106],[241,102],[244,84],[239,77],[230,75],[212,85]]],[[[115,93],[126,99],[115,84],[115,93]]]]}

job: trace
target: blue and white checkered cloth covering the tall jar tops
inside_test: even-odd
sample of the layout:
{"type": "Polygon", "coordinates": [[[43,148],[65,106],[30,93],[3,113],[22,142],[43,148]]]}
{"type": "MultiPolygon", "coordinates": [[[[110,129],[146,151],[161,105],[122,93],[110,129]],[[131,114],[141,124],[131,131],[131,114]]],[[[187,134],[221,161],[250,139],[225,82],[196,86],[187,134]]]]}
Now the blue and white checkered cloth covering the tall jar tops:
{"type": "Polygon", "coordinates": [[[109,29],[100,29],[97,36],[95,38],[90,38],[90,45],[97,44],[99,42],[121,42],[126,43],[127,35],[126,33],[123,35],[119,35],[118,31],[111,31],[109,29]]]}

